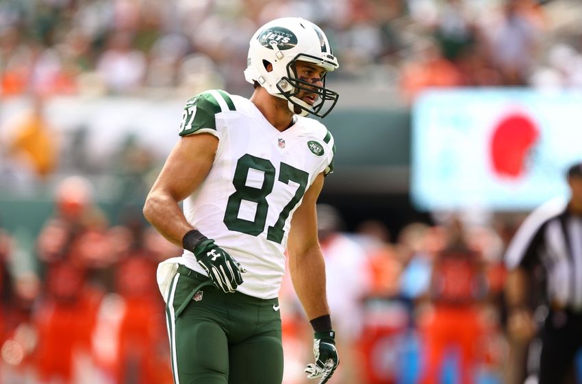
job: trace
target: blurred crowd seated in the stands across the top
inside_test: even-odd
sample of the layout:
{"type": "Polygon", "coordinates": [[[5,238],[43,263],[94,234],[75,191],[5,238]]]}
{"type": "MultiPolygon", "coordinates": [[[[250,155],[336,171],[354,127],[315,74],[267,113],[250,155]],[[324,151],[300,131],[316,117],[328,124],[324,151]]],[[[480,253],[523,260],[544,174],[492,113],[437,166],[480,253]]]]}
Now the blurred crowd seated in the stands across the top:
{"type": "Polygon", "coordinates": [[[0,94],[249,94],[249,38],[280,16],[325,30],[334,79],[400,89],[582,85],[575,0],[6,0],[0,94]]]}

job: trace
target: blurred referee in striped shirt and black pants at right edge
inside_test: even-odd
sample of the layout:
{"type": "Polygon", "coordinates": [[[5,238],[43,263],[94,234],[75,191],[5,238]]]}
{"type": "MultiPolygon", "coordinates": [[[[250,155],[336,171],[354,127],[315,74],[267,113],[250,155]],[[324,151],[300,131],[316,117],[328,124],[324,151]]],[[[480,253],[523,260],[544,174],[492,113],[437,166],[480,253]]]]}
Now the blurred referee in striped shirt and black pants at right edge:
{"type": "Polygon", "coordinates": [[[540,327],[539,384],[568,383],[582,347],[582,163],[568,169],[567,179],[570,199],[536,208],[505,254],[511,337],[533,335],[533,287],[544,282],[548,315],[540,327]]]}

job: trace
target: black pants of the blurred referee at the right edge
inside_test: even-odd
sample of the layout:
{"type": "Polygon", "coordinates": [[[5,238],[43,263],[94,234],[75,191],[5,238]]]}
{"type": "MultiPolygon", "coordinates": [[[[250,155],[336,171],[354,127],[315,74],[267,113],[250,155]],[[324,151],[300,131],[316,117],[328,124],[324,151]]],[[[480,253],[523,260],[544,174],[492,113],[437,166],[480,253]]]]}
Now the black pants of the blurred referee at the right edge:
{"type": "Polygon", "coordinates": [[[552,310],[542,328],[542,355],[538,384],[568,383],[574,356],[582,347],[582,313],[552,310]]]}

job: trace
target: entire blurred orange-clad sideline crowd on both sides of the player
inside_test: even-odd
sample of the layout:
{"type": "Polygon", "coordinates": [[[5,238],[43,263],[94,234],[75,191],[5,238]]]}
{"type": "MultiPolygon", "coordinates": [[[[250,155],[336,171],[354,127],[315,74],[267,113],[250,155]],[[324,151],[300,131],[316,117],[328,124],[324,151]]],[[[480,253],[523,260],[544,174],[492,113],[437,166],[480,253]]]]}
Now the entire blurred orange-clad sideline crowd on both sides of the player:
{"type": "MultiPolygon", "coordinates": [[[[0,382],[171,383],[155,269],[181,250],[139,211],[110,224],[86,178],[62,180],[53,205],[34,248],[0,227],[0,382]]],[[[346,232],[340,211],[319,204],[335,382],[517,383],[502,261],[517,225],[451,214],[395,235],[373,220],[346,232]]],[[[280,300],[284,383],[305,384],[312,331],[290,280],[280,300]]]]}

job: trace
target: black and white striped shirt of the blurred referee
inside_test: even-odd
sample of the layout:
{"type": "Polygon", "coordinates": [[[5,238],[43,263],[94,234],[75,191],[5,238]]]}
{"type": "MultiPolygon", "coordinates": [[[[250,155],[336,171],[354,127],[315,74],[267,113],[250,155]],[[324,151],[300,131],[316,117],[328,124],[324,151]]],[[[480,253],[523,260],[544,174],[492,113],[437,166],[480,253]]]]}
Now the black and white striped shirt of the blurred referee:
{"type": "Polygon", "coordinates": [[[533,211],[509,243],[508,270],[546,269],[550,302],[582,311],[582,217],[572,215],[564,199],[551,200],[533,211]]]}

